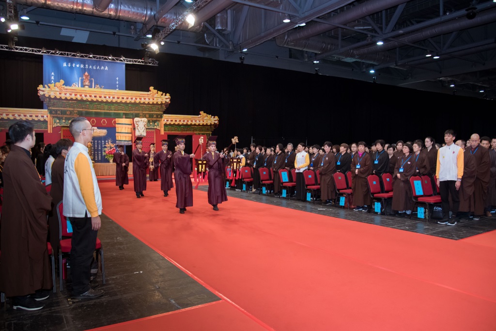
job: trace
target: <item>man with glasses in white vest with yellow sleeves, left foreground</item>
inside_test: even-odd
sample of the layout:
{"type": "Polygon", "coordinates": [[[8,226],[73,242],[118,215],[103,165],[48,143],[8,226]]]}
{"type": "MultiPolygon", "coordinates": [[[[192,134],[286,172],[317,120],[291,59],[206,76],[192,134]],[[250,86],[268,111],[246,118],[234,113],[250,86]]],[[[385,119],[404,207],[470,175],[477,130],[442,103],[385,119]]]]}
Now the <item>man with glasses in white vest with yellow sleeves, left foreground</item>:
{"type": "Polygon", "coordinates": [[[95,170],[88,154],[93,128],[84,117],[76,117],[69,124],[74,144],[65,157],[63,214],[72,225],[70,271],[72,295],[75,299],[93,299],[102,290],[90,286],[90,265],[101,227],[102,196],[95,170]]]}

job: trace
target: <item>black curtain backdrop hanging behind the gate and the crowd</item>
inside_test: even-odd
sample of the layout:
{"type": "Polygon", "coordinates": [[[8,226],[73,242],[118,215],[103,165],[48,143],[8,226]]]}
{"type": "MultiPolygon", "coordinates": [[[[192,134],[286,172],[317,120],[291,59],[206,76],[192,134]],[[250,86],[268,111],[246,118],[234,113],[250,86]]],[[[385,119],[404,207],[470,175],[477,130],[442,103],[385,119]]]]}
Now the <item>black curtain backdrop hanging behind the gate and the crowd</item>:
{"type": "MultiPolygon", "coordinates": [[[[17,46],[128,58],[144,55],[143,50],[21,37],[17,46]]],[[[261,145],[274,139],[294,145],[307,139],[321,145],[326,140],[371,144],[375,139],[396,142],[426,136],[442,143],[447,129],[464,140],[474,132],[496,133],[488,118],[494,101],[167,53],[159,53],[156,60],[159,66],[126,65],[126,89],[148,91],[153,86],[169,93],[167,114],[203,111],[218,116],[213,134],[219,136],[219,146],[230,144],[235,135],[238,147],[245,147],[252,136],[266,137],[254,141],[261,145]]],[[[43,108],[36,89],[42,83],[42,56],[0,51],[0,72],[0,107],[43,108]]]]}

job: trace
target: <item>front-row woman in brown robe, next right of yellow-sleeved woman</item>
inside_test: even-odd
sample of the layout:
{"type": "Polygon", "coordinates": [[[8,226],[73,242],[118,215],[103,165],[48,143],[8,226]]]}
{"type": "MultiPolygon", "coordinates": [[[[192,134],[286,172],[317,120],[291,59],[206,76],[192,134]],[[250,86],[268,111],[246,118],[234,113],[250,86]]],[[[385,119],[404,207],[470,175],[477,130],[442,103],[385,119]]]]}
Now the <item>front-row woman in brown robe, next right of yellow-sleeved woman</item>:
{"type": "Polygon", "coordinates": [[[318,170],[320,171],[320,199],[322,204],[326,206],[332,205],[336,199],[336,186],[332,177],[336,172],[336,159],[331,150],[332,144],[330,141],[324,142],[324,151],[318,170]]]}

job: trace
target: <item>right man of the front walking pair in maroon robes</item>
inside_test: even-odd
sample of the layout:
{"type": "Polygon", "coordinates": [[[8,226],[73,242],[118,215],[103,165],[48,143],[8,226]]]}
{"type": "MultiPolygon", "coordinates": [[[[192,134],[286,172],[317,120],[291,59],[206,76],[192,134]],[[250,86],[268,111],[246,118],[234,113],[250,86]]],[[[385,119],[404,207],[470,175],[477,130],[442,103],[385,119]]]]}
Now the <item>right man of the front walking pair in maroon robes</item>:
{"type": "Polygon", "coordinates": [[[217,136],[208,137],[208,151],[201,159],[207,161],[208,165],[208,203],[213,206],[214,210],[219,210],[218,204],[227,201],[227,192],[223,185],[222,160],[219,160],[224,158],[224,154],[215,152],[216,141],[217,136]]]}

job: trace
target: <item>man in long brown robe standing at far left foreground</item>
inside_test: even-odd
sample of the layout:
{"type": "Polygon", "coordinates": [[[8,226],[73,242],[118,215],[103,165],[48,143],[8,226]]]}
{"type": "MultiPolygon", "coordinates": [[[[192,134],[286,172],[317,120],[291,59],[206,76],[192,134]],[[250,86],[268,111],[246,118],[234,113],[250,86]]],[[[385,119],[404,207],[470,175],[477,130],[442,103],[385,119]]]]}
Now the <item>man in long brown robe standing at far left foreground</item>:
{"type": "Polygon", "coordinates": [[[49,297],[42,289],[52,288],[47,251],[52,198],[31,161],[33,124],[16,122],[8,133],[13,144],[3,167],[0,291],[14,297],[14,309],[37,310],[44,306],[37,300],[49,297]]]}

